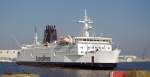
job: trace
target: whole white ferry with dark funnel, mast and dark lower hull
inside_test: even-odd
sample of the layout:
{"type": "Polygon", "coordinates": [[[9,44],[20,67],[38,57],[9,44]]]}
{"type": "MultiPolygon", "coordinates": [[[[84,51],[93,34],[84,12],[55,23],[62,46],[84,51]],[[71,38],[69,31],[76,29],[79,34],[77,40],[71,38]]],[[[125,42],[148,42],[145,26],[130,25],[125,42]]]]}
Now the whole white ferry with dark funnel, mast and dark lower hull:
{"type": "Polygon", "coordinates": [[[90,36],[91,24],[85,10],[81,36],[63,36],[57,38],[55,25],[47,25],[43,43],[38,42],[35,30],[35,42],[22,46],[17,64],[60,67],[115,68],[121,52],[112,48],[112,38],[90,36]]]}

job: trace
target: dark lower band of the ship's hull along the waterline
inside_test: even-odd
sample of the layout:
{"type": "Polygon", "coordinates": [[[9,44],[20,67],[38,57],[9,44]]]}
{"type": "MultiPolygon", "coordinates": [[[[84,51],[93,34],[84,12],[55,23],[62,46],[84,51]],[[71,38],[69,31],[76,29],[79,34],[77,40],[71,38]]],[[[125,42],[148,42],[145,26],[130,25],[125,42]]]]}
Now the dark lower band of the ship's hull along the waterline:
{"type": "Polygon", "coordinates": [[[43,67],[69,67],[89,69],[114,69],[117,63],[77,63],[77,62],[17,62],[18,65],[43,67]]]}

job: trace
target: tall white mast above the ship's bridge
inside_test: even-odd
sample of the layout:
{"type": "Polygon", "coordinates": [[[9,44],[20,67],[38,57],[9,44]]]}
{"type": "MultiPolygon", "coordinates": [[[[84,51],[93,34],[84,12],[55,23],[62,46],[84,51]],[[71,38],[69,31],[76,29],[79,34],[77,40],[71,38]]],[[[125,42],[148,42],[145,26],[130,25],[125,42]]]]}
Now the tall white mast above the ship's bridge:
{"type": "Polygon", "coordinates": [[[90,36],[89,30],[92,28],[92,26],[90,26],[90,24],[93,23],[93,22],[87,16],[86,9],[85,9],[85,12],[84,12],[84,20],[79,21],[79,22],[84,24],[83,37],[89,37],[90,36]]]}

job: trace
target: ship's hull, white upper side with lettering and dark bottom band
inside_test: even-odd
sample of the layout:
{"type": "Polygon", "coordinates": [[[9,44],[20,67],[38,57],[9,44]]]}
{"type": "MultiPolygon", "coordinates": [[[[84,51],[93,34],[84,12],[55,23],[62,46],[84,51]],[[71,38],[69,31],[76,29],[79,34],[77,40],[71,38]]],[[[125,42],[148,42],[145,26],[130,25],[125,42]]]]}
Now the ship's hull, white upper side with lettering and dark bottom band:
{"type": "Polygon", "coordinates": [[[38,66],[63,66],[85,68],[115,68],[120,50],[97,51],[86,55],[69,55],[54,51],[52,48],[34,48],[22,51],[17,59],[18,64],[38,66]],[[50,51],[51,49],[51,51],[50,51]]]}

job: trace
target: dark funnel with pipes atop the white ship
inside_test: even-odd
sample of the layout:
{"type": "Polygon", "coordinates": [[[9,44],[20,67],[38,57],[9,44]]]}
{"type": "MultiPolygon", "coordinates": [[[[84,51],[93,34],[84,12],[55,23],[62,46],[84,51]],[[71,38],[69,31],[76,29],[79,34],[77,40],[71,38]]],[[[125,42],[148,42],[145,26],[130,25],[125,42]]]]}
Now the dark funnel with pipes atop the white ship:
{"type": "Polygon", "coordinates": [[[55,25],[46,25],[44,31],[43,43],[52,43],[57,40],[57,31],[55,25]]]}

